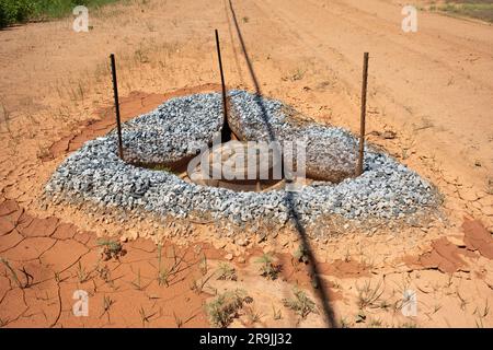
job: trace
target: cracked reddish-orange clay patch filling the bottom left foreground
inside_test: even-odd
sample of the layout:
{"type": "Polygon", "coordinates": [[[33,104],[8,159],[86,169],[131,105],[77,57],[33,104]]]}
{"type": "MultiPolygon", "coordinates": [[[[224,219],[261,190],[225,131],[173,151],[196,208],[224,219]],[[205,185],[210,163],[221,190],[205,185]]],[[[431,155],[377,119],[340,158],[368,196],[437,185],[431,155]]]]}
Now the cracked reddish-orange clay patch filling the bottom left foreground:
{"type": "Polygon", "coordinates": [[[126,243],[125,256],[105,261],[95,233],[58,218],[34,218],[13,200],[0,203],[0,228],[1,326],[208,326],[204,301],[210,295],[191,285],[202,277],[199,257],[218,255],[209,246],[164,243],[162,271],[172,272],[159,284],[151,241],[126,243]],[[77,290],[89,294],[88,317],[72,314],[77,290]]]}

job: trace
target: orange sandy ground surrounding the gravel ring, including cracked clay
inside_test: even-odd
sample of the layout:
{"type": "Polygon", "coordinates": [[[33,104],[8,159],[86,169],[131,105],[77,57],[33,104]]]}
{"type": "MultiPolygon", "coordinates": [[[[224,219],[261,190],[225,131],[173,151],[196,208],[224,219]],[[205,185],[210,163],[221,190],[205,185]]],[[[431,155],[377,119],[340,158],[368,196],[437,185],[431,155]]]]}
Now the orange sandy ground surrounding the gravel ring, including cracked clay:
{"type": "Polygon", "coordinates": [[[134,1],[91,12],[89,33],[71,31],[71,19],[0,32],[0,257],[8,261],[0,325],[209,326],[205,303],[240,288],[253,302],[231,326],[492,327],[492,26],[420,12],[417,33],[405,34],[402,4],[392,0],[233,0],[232,8],[134,1]],[[289,230],[230,242],[191,224],[181,238],[152,222],[43,202],[67,154],[113,127],[108,54],[117,57],[127,119],[173,95],[218,89],[214,28],[229,88],[353,131],[369,51],[368,139],[439,188],[442,215],[369,233],[328,228],[328,238],[310,242],[317,264],[305,265],[293,257],[300,240],[289,230]],[[122,240],[127,254],[104,261],[98,236],[122,240]],[[274,281],[259,273],[264,252],[283,267],[274,281]],[[159,283],[160,255],[173,271],[168,284],[159,283]],[[217,279],[221,260],[236,281],[217,279]],[[295,287],[317,313],[301,318],[283,305],[295,287]],[[88,317],[72,313],[77,290],[88,292],[88,317]],[[406,290],[415,292],[415,316],[402,313],[406,290]]]}

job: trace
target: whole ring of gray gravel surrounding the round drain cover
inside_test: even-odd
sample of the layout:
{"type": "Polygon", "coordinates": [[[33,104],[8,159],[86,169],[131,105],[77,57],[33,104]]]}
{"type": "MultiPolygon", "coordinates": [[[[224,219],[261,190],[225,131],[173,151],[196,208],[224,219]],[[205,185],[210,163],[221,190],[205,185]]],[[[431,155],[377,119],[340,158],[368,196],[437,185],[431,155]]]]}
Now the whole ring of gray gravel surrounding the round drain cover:
{"type": "MultiPolygon", "coordinates": [[[[253,95],[238,91],[230,94],[237,106],[241,104],[237,112],[242,118],[256,120],[259,105],[250,103],[249,108],[253,95]]],[[[262,103],[272,119],[278,118],[278,122],[274,122],[278,135],[293,137],[300,132],[301,129],[289,130],[280,102],[265,98],[262,103]]],[[[156,110],[124,124],[125,147],[133,150],[136,159],[140,156],[147,162],[149,158],[170,161],[194,154],[220,130],[220,113],[219,94],[170,100],[156,110]]],[[[249,133],[256,129],[244,130],[249,133]]],[[[357,143],[341,128],[311,125],[303,130],[307,140],[324,141],[342,150],[357,143]]],[[[268,135],[261,138],[268,138],[268,135]]],[[[354,166],[353,159],[348,162],[354,166]]],[[[117,156],[116,136],[111,132],[87,142],[68,156],[45,190],[55,201],[88,201],[101,208],[117,207],[162,217],[225,219],[236,224],[266,220],[283,225],[294,211],[303,224],[333,214],[357,220],[395,220],[437,205],[435,189],[387,154],[367,148],[365,165],[365,173],[357,178],[346,178],[339,184],[318,182],[293,195],[285,190],[237,192],[186,183],[168,172],[129,165],[117,156]]]]}

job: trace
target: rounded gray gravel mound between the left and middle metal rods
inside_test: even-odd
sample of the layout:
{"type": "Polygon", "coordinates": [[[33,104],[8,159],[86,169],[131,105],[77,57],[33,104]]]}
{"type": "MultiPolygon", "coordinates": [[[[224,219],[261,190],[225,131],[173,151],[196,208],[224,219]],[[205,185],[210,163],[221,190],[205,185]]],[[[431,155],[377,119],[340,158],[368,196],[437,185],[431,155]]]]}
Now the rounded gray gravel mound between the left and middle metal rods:
{"type": "Polygon", "coordinates": [[[187,160],[222,128],[217,93],[172,98],[156,110],[125,122],[124,158],[137,164],[172,164],[187,160]]]}

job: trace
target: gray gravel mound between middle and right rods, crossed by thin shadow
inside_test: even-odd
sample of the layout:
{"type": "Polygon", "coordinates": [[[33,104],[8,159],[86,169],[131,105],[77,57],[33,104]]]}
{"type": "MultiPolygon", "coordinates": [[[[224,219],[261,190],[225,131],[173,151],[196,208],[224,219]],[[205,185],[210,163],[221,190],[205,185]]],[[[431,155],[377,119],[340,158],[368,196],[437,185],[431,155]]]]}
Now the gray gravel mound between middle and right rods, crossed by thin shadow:
{"type": "Polygon", "coordinates": [[[230,93],[228,124],[243,141],[301,141],[306,144],[307,176],[339,183],[353,176],[357,140],[343,129],[316,124],[298,125],[294,113],[279,101],[263,98],[244,91],[230,93]]]}

